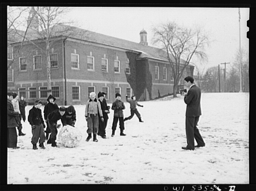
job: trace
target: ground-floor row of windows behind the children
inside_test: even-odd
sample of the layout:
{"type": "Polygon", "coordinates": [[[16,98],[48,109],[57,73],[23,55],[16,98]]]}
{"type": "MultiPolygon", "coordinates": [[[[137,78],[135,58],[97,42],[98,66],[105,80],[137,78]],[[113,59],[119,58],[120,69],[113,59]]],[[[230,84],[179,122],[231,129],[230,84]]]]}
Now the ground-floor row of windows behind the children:
{"type": "MultiPolygon", "coordinates": [[[[26,88],[18,88],[19,96],[26,98],[26,88]]],[[[96,92],[95,86],[88,87],[88,99],[91,92],[96,92]]],[[[109,87],[102,87],[102,92],[106,93],[106,99],[109,99],[109,87]]],[[[121,87],[115,87],[115,94],[121,94],[121,87]]],[[[132,89],[130,87],[126,88],[126,94],[130,97],[132,94],[132,89]]],[[[52,95],[55,98],[59,98],[59,86],[52,86],[52,95]]],[[[39,87],[38,96],[36,87],[28,87],[28,99],[30,98],[47,98],[47,87],[39,87]]],[[[72,99],[81,100],[80,86],[72,86],[72,99]]]]}

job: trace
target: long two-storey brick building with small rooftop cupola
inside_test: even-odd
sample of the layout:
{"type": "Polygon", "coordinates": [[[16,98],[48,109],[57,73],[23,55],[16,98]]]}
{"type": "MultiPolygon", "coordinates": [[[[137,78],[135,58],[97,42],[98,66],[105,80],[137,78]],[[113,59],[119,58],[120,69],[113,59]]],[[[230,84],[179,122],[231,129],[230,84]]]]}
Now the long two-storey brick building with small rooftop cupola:
{"type": "MultiPolygon", "coordinates": [[[[66,27],[64,25],[60,27],[66,27]]],[[[51,48],[51,86],[58,105],[85,104],[89,93],[107,93],[113,102],[115,93],[139,100],[172,94],[173,78],[165,51],[148,46],[147,33],[140,32],[140,43],[75,28],[73,35],[54,37],[51,48]],[[84,37],[78,34],[86,34],[84,37]]],[[[25,42],[8,71],[8,89],[23,95],[30,103],[47,99],[47,59],[38,47],[43,39],[25,42]],[[11,73],[12,71],[12,73],[11,73]],[[12,78],[12,82],[10,81],[12,78]]],[[[16,51],[20,42],[12,42],[16,51]]],[[[189,65],[183,76],[193,76],[189,65]]],[[[183,80],[181,81],[181,83],[183,80]]]]}

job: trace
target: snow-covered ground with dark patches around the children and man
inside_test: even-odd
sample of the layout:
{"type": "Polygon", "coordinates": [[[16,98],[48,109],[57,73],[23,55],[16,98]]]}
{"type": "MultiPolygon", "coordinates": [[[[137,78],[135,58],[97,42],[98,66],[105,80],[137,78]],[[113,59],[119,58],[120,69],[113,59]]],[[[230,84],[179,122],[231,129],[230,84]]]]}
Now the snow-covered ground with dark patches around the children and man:
{"type": "MultiPolygon", "coordinates": [[[[82,132],[75,148],[33,150],[31,126],[18,137],[20,149],[8,149],[8,184],[248,184],[249,93],[202,93],[198,128],[206,147],[186,146],[183,97],[139,102],[144,123],[125,122],[127,136],[86,142],[85,105],[75,105],[76,128],[82,132]]],[[[111,104],[109,104],[111,106],[111,104]]],[[[124,116],[129,116],[125,102],[124,116]]],[[[26,107],[26,115],[32,106],[26,107]]],[[[43,108],[42,108],[43,111],[43,108]]],[[[59,121],[60,123],[60,121],[59,121]]],[[[58,140],[57,140],[58,142],[58,140]]]]}

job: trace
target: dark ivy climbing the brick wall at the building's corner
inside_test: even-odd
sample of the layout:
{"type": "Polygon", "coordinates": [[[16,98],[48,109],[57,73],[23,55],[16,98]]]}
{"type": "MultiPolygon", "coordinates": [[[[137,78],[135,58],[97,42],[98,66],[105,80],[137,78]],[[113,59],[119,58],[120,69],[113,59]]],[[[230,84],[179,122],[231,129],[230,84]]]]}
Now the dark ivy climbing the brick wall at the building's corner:
{"type": "Polygon", "coordinates": [[[126,52],[129,59],[130,74],[126,74],[127,82],[134,91],[134,95],[139,99],[146,88],[149,92],[149,98],[152,99],[152,75],[149,71],[148,60],[136,61],[139,54],[126,52]]]}

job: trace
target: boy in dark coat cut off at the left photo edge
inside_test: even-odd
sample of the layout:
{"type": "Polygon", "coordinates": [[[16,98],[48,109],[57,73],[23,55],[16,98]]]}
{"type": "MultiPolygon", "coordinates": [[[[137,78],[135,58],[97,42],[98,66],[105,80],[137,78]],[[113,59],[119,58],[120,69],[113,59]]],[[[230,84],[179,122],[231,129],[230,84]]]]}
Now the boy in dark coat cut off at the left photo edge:
{"type": "Polygon", "coordinates": [[[18,112],[14,111],[12,104],[12,92],[7,93],[7,136],[8,136],[8,148],[17,149],[17,131],[18,123],[16,117],[19,115],[18,112]]]}

